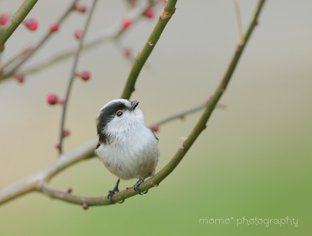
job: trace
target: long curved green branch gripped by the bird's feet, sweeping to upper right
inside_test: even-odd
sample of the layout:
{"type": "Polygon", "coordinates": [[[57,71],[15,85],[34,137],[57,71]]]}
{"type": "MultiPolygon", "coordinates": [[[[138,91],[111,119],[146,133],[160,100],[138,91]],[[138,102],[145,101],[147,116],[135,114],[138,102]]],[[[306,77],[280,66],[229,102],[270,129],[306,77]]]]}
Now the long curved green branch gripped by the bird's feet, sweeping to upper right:
{"type": "MultiPolygon", "coordinates": [[[[182,158],[185,156],[187,151],[190,149],[190,147],[193,145],[197,137],[200,135],[200,133],[206,128],[207,121],[212,114],[212,111],[214,110],[215,106],[217,105],[217,101],[221,98],[222,94],[225,92],[225,89],[232,77],[232,74],[236,68],[236,65],[238,63],[238,60],[240,59],[241,53],[243,52],[246,43],[251,35],[251,32],[254,30],[255,26],[257,25],[257,19],[259,16],[259,13],[263,7],[263,4],[266,0],[260,0],[257,6],[256,13],[254,15],[253,20],[251,21],[251,24],[247,30],[246,35],[244,36],[243,40],[238,45],[236,52],[231,60],[231,63],[222,78],[221,83],[219,84],[216,92],[214,95],[209,99],[209,101],[206,104],[206,109],[203,112],[201,118],[197,122],[197,125],[194,127],[191,134],[188,136],[188,138],[183,142],[182,146],[178,149],[177,153],[174,155],[174,157],[169,161],[169,163],[161,169],[156,175],[149,178],[148,180],[144,181],[140,184],[141,191],[146,191],[152,187],[158,186],[160,182],[162,182],[180,163],[182,158]]],[[[87,197],[87,196],[79,196],[79,195],[73,195],[69,194],[63,191],[59,191],[45,182],[41,184],[41,186],[38,189],[39,191],[44,192],[48,196],[51,196],[53,198],[58,198],[63,201],[68,201],[75,204],[87,204],[87,205],[109,205],[110,202],[107,199],[107,196],[99,196],[99,197],[87,197]],[[60,197],[61,196],[61,197],[60,197]]],[[[138,194],[136,191],[134,191],[133,187],[129,187],[126,190],[120,191],[118,193],[115,193],[112,197],[114,202],[122,201],[126,198],[129,198],[131,196],[134,196],[138,194]]]]}

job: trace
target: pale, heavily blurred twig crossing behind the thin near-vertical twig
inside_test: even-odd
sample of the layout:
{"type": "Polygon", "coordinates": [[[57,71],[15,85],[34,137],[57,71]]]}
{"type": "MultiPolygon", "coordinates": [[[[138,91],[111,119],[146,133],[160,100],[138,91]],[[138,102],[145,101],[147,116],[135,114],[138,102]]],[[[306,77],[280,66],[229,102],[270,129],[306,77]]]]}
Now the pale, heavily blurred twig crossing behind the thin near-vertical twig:
{"type": "MultiPolygon", "coordinates": [[[[142,18],[142,16],[144,16],[144,13],[146,12],[147,9],[154,7],[159,2],[160,2],[160,0],[149,1],[148,5],[146,7],[139,8],[138,10],[134,11],[134,13],[131,16],[129,16],[127,18],[131,19],[133,24],[134,24],[137,21],[139,21],[139,19],[142,18]]],[[[119,38],[124,32],[125,32],[125,29],[120,27],[120,24],[118,24],[118,27],[116,27],[116,29],[113,32],[109,31],[105,35],[102,35],[101,37],[96,38],[96,39],[91,40],[90,42],[86,43],[83,46],[82,51],[92,49],[92,48],[99,46],[105,42],[108,42],[110,40],[115,40],[115,39],[119,38]]],[[[20,69],[19,73],[24,74],[24,75],[30,75],[30,74],[36,73],[39,70],[42,70],[42,69],[47,68],[51,65],[54,65],[58,62],[61,62],[65,59],[68,59],[71,56],[74,56],[75,54],[76,54],[76,49],[67,50],[67,51],[62,52],[60,54],[57,54],[56,56],[52,57],[51,59],[47,59],[41,63],[36,63],[36,65],[34,65],[32,67],[20,69]]],[[[17,68],[15,68],[15,70],[16,69],[17,68]]],[[[3,75],[2,75],[3,79],[10,78],[12,75],[13,75],[12,69],[5,68],[3,70],[3,75]]]]}

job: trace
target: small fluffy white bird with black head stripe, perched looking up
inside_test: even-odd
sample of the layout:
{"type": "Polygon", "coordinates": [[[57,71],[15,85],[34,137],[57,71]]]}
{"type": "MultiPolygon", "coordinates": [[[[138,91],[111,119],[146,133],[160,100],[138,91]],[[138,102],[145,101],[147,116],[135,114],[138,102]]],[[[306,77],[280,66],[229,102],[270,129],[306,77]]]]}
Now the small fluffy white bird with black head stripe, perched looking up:
{"type": "Polygon", "coordinates": [[[114,203],[111,197],[119,192],[120,179],[139,178],[133,187],[142,194],[139,185],[155,174],[160,157],[158,138],[145,126],[138,104],[138,101],[115,99],[106,103],[96,118],[99,143],[95,153],[118,177],[115,188],[108,194],[111,203],[114,203]]]}

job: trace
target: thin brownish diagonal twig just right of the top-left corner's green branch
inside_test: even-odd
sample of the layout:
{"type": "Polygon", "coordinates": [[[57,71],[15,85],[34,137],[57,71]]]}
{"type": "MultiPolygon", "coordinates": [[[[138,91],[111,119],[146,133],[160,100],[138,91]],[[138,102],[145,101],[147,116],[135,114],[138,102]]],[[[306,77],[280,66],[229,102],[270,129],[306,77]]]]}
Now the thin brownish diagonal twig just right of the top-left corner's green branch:
{"type": "MultiPolygon", "coordinates": [[[[76,6],[76,3],[79,0],[74,0],[70,6],[67,8],[67,10],[62,14],[62,16],[60,17],[60,19],[56,22],[57,25],[60,25],[61,22],[69,15],[69,13],[74,9],[74,7],[76,6]]],[[[53,34],[54,32],[51,32],[50,28],[48,29],[46,35],[44,35],[41,40],[39,40],[39,42],[37,43],[37,45],[33,46],[31,49],[27,50],[24,54],[22,54],[21,57],[18,57],[17,60],[14,61],[14,63],[10,63],[11,66],[7,68],[7,71],[5,72],[5,74],[10,74],[12,75],[17,68],[19,68],[23,63],[25,63],[27,61],[27,59],[34,54],[34,52],[36,52],[43,44],[44,42],[53,34]]],[[[8,66],[9,64],[7,64],[8,66]]]]}

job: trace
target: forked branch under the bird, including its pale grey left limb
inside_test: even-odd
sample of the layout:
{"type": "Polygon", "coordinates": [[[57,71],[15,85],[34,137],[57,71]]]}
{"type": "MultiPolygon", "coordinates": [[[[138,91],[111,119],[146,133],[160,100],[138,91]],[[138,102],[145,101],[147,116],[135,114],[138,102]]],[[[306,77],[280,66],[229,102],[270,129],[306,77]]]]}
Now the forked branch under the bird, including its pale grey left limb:
{"type": "MultiPolygon", "coordinates": [[[[261,9],[265,3],[265,0],[260,0],[257,8],[256,13],[250,23],[250,26],[243,38],[243,40],[237,46],[236,52],[229,64],[229,67],[222,78],[221,83],[219,84],[217,90],[215,91],[214,95],[209,99],[205,106],[205,110],[197,122],[197,125],[194,127],[193,131],[190,133],[188,138],[183,142],[183,145],[178,149],[177,153],[174,157],[169,161],[169,163],[163,167],[156,175],[151,177],[150,179],[146,180],[145,182],[141,183],[140,188],[142,191],[145,191],[149,188],[154,186],[158,186],[158,184],[166,178],[174,168],[177,167],[178,163],[182,160],[184,155],[187,153],[188,149],[192,146],[194,141],[197,139],[199,134],[202,130],[205,129],[206,123],[212,114],[212,111],[217,105],[217,102],[225,92],[225,89],[232,77],[232,74],[236,68],[239,58],[241,57],[241,53],[244,50],[246,43],[251,35],[251,32],[257,25],[258,16],[261,12],[261,9]]],[[[135,83],[135,81],[134,81],[135,83]]],[[[133,83],[133,86],[134,86],[133,83]]],[[[132,92],[132,91],[131,91],[132,92]]],[[[130,95],[131,95],[130,92],[130,95]]],[[[130,97],[130,96],[129,96],[130,97]]],[[[181,115],[180,115],[181,116],[181,115]]],[[[180,117],[177,116],[177,117],[180,117]]],[[[87,159],[93,156],[95,146],[97,144],[97,139],[92,140],[90,143],[85,144],[84,146],[80,147],[76,151],[68,154],[62,154],[60,159],[58,159],[55,163],[51,164],[49,167],[45,168],[41,172],[29,177],[13,186],[9,186],[0,190],[0,204],[9,201],[17,196],[21,196],[24,193],[30,191],[41,191],[48,196],[53,198],[58,198],[63,201],[68,201],[71,203],[76,204],[87,204],[87,205],[107,205],[110,204],[106,196],[99,196],[99,197],[87,197],[87,196],[79,196],[73,195],[70,193],[66,193],[63,191],[59,191],[54,189],[53,187],[49,186],[47,182],[54,176],[56,173],[60,172],[61,170],[67,168],[71,164],[77,163],[80,160],[87,159]]],[[[128,188],[124,191],[120,191],[113,196],[113,201],[118,202],[123,199],[126,199],[130,196],[136,195],[137,192],[134,189],[128,188]]]]}

